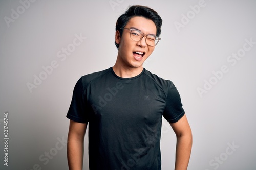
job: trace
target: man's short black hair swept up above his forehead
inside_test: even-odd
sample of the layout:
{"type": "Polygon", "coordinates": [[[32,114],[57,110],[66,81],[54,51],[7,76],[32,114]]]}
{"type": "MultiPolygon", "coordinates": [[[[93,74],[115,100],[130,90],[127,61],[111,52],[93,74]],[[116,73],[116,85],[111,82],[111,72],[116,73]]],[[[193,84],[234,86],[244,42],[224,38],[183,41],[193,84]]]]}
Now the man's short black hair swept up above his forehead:
{"type": "MultiPolygon", "coordinates": [[[[162,26],[162,18],[158,15],[158,13],[147,7],[147,6],[141,6],[141,5],[133,5],[130,6],[124,14],[120,15],[119,18],[116,21],[116,31],[120,32],[120,37],[122,37],[123,29],[127,24],[127,22],[135,17],[135,16],[141,16],[146,19],[152,20],[157,28],[157,34],[156,36],[159,37],[161,34],[161,26],[162,26]]],[[[116,47],[119,47],[119,44],[115,42],[116,47]]]]}

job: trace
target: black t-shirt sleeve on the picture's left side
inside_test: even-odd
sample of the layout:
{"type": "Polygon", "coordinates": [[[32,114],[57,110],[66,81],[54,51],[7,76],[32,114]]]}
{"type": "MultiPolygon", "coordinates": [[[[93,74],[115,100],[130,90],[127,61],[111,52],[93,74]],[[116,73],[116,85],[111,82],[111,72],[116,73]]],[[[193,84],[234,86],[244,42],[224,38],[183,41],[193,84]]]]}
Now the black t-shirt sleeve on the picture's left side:
{"type": "Polygon", "coordinates": [[[67,113],[67,118],[79,122],[79,123],[87,123],[87,102],[84,98],[84,87],[82,84],[82,78],[80,78],[73,91],[73,96],[71,100],[71,104],[67,113]]]}

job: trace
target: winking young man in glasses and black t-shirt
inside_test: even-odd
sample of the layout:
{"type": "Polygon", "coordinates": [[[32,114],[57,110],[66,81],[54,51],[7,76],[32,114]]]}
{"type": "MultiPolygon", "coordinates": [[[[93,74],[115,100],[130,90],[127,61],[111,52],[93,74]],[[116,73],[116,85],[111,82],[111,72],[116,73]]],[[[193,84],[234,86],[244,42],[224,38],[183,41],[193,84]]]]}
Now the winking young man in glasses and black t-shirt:
{"type": "Polygon", "coordinates": [[[89,124],[90,169],[160,170],[162,116],[177,136],[175,169],[187,169],[192,135],[180,95],[171,81],[142,66],[160,40],[161,25],[154,10],[131,6],[116,23],[115,65],[76,83],[67,114],[69,169],[82,169],[89,124]]]}

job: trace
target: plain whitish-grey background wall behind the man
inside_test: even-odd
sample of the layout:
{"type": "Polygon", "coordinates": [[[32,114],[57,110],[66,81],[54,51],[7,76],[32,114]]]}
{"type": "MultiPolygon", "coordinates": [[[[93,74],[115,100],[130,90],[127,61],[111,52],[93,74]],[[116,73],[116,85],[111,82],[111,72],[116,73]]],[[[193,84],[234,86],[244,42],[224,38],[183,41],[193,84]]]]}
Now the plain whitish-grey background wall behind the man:
{"type": "MultiPolygon", "coordinates": [[[[0,2],[0,169],[68,169],[66,114],[74,85],[82,75],[114,65],[115,22],[132,4],[147,5],[163,19],[162,39],[144,67],[172,80],[180,92],[194,137],[188,169],[255,169],[256,1],[205,0],[196,13],[192,8],[200,3],[194,0],[22,2],[27,3],[0,2]],[[177,28],[178,22],[183,27],[177,28]],[[59,58],[62,48],[71,49],[75,35],[86,38],[65,60],[59,58]],[[229,56],[236,53],[243,57],[234,64],[229,56]],[[54,61],[57,67],[44,75],[42,67],[54,61]],[[220,74],[222,66],[228,71],[220,74]],[[34,75],[45,80],[29,90],[34,75]],[[198,88],[205,91],[200,94],[198,88]],[[3,161],[5,112],[8,166],[3,161]]],[[[164,120],[163,170],[174,167],[175,144],[164,120]]]]}

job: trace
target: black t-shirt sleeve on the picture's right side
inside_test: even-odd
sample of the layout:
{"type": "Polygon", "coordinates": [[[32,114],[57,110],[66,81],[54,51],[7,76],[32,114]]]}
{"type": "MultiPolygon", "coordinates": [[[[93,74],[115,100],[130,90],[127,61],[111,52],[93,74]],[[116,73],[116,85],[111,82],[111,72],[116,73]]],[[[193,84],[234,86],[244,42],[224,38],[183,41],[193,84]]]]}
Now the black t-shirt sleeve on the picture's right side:
{"type": "Polygon", "coordinates": [[[165,109],[163,112],[163,117],[169,123],[178,122],[178,120],[185,114],[184,109],[182,107],[180,94],[175,87],[175,85],[171,82],[168,92],[167,99],[165,104],[165,109]]]}

